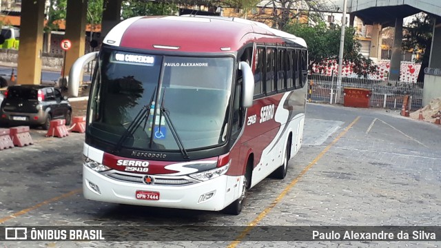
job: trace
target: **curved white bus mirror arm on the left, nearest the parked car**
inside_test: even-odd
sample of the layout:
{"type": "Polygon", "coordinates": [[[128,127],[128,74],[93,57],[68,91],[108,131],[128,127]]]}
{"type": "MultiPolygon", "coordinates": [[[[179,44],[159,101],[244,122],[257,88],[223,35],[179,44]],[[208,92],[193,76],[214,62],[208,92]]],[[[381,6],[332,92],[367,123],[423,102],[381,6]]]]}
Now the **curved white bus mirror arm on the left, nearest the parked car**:
{"type": "Polygon", "coordinates": [[[70,68],[69,81],[68,81],[68,94],[69,96],[78,96],[78,90],[80,87],[80,81],[83,81],[83,68],[85,64],[96,59],[98,52],[90,52],[85,54],[79,59],[76,59],[75,63],[70,68]]]}

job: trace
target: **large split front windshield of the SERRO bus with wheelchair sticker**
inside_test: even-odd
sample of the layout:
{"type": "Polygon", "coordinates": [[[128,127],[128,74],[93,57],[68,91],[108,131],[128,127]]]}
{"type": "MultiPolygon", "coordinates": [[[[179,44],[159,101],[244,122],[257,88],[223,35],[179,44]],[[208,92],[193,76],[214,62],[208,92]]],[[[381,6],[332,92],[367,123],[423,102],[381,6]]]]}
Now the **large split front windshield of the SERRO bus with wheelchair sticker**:
{"type": "Polygon", "coordinates": [[[103,49],[92,87],[88,132],[129,149],[220,145],[226,139],[233,66],[232,57],[103,49]]]}

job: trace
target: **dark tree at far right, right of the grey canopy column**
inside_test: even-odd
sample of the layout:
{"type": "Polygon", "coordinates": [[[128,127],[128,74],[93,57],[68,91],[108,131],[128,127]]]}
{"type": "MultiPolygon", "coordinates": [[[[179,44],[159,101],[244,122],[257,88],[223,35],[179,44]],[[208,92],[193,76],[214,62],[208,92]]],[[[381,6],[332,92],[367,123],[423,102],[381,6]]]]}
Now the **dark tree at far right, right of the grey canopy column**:
{"type": "Polygon", "coordinates": [[[413,50],[420,55],[417,62],[421,62],[421,70],[420,74],[418,74],[417,82],[422,82],[424,81],[424,68],[429,66],[433,17],[429,14],[418,14],[403,30],[403,50],[413,50]]]}

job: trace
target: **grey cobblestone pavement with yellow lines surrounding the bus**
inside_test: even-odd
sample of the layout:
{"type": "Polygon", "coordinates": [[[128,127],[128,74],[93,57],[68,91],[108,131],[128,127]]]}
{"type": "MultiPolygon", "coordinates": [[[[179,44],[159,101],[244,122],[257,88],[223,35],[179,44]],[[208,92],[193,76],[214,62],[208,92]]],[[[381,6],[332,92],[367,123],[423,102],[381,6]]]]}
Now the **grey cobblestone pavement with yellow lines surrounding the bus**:
{"type": "MultiPolygon", "coordinates": [[[[381,110],[309,104],[304,144],[289,161],[287,177],[267,178],[251,189],[239,216],[85,200],[76,190],[81,189],[83,134],[43,135],[34,130],[35,145],[0,152],[1,225],[441,225],[441,127],[381,110]],[[56,198],[63,194],[68,195],[56,198]]],[[[227,247],[230,242],[0,242],[0,247],[227,247]]],[[[236,245],[436,247],[441,242],[236,245]]]]}

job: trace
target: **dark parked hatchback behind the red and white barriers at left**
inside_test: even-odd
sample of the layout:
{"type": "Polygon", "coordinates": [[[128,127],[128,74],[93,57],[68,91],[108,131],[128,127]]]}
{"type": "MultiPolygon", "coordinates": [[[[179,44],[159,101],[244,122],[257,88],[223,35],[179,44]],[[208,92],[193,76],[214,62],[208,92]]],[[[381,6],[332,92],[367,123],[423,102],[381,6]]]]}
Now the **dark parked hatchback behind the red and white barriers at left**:
{"type": "Polygon", "coordinates": [[[0,105],[0,125],[41,125],[48,130],[50,121],[66,120],[70,125],[72,107],[66,96],[51,86],[14,85],[8,87],[0,105]]]}

